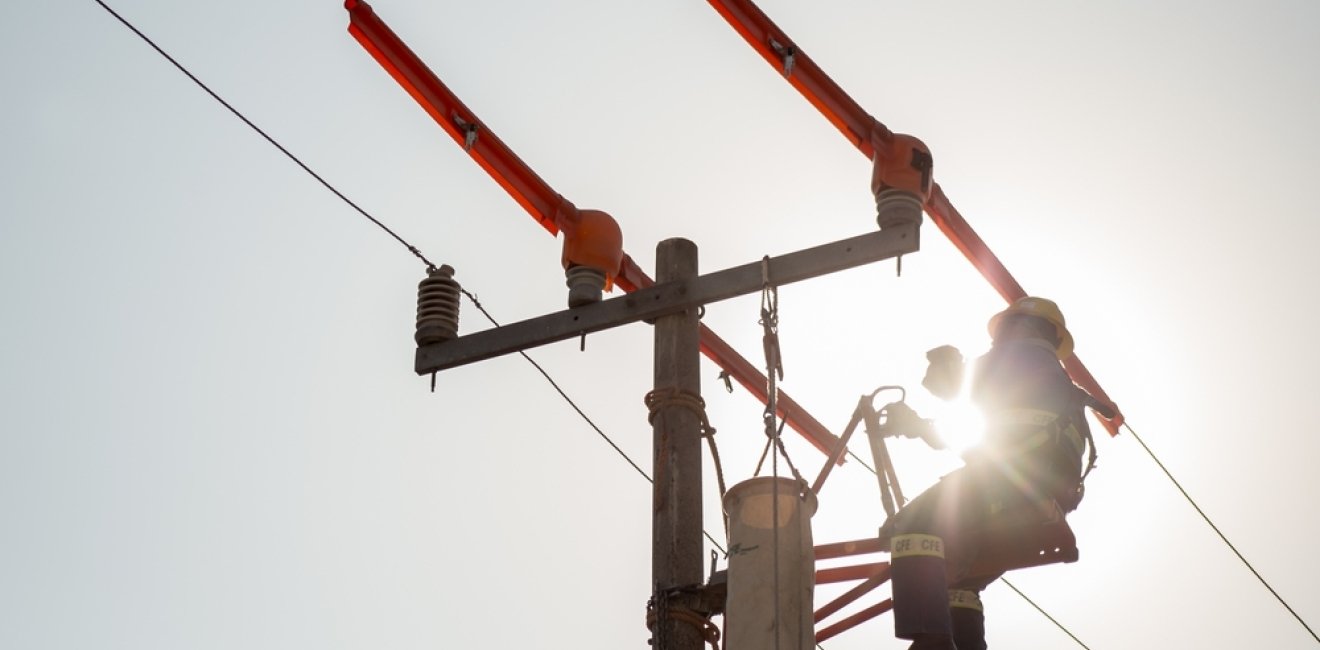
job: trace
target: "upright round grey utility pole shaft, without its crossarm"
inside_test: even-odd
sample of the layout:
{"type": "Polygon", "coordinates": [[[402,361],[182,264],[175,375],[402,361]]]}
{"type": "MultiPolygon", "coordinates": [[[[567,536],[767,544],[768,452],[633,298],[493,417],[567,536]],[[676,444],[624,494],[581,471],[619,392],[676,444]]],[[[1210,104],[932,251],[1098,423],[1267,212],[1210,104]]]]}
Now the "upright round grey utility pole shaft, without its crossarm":
{"type": "MultiPolygon", "coordinates": [[[[665,239],[656,246],[656,281],[697,277],[697,244],[665,239]]],[[[697,310],[688,308],[656,318],[656,395],[701,395],[701,350],[697,310]]],[[[652,420],[655,440],[655,503],[651,526],[651,580],[657,598],[690,608],[688,598],[668,598],[676,587],[700,585],[701,571],[701,419],[692,408],[663,400],[652,420]]],[[[657,650],[701,650],[704,642],[692,625],[673,618],[655,622],[657,650]]]]}

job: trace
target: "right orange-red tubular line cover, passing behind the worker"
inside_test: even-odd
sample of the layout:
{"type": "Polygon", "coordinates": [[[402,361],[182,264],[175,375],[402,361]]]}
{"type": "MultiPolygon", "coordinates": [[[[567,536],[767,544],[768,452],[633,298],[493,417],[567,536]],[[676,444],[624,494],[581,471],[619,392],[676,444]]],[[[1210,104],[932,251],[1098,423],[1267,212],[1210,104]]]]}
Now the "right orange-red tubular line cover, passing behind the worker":
{"type": "MultiPolygon", "coordinates": [[[[847,92],[843,92],[843,89],[821,71],[816,62],[803,54],[793,45],[793,41],[751,0],[708,1],[766,62],[779,70],[788,79],[788,83],[797,89],[867,159],[875,157],[876,144],[888,144],[894,137],[894,133],[884,124],[862,110],[847,92]]],[[[1012,303],[1027,295],[1012,273],[999,262],[999,258],[990,251],[990,247],[972,230],[962,214],[953,207],[939,184],[935,184],[931,190],[925,211],[1005,300],[1012,303]]],[[[1064,367],[1068,369],[1072,379],[1088,392],[1105,404],[1114,404],[1077,355],[1065,359],[1064,367]]],[[[1117,406],[1114,406],[1114,414],[1113,419],[1105,419],[1096,414],[1110,435],[1117,435],[1118,427],[1123,423],[1123,415],[1117,406]]]]}

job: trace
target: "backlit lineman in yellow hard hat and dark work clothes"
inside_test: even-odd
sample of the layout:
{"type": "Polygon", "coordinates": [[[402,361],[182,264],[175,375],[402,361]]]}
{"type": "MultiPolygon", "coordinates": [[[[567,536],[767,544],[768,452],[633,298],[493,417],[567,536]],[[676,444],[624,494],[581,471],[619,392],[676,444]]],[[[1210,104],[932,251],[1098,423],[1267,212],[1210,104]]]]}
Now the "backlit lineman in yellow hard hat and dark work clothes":
{"type": "Polygon", "coordinates": [[[895,635],[911,639],[911,650],[985,650],[979,595],[999,575],[966,576],[981,543],[977,531],[1016,505],[1052,498],[1071,511],[1081,498],[1090,432],[1080,388],[1060,365],[1073,347],[1063,313],[1049,300],[1024,297],[990,318],[989,330],[991,347],[972,377],[985,439],[964,453],[964,468],[882,528],[882,536],[892,535],[895,635]]]}

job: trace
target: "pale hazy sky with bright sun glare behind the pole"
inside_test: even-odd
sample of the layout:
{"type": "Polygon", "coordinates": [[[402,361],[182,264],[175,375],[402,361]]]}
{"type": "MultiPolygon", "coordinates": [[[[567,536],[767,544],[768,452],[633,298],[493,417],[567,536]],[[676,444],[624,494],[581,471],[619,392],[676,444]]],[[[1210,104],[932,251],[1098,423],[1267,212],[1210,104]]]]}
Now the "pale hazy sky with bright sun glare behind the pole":
{"type": "MultiPolygon", "coordinates": [[[[496,317],[561,308],[557,242],[346,33],[341,3],[114,5],[496,317]]],[[[614,214],[643,268],[668,236],[713,271],[874,227],[866,160],[706,3],[374,7],[558,192],[614,214]]],[[[760,7],[931,145],[1137,431],[1320,624],[1320,5],[760,7]]],[[[5,13],[0,646],[645,647],[649,486],[528,363],[429,394],[422,268],[401,247],[90,0],[5,13]]],[[[924,231],[902,279],[879,264],[781,292],[784,388],[832,428],[875,386],[916,388],[928,347],[986,345],[999,299],[924,231]]],[[[755,297],[706,321],[756,359],[755,297]]],[[[484,326],[465,304],[463,330],[484,326]]],[[[533,355],[649,468],[649,328],[533,355]]],[[[746,478],[760,407],[704,363],[746,478]]],[[[956,465],[898,447],[909,493],[956,465]]],[[[882,517],[845,466],[816,539],[882,517]]],[[[1080,563],[1011,577],[1090,647],[1311,646],[1129,436],[1101,440],[1071,521],[1080,563]]],[[[1002,585],[986,601],[991,647],[1073,647],[1002,585]]],[[[826,647],[903,645],[884,617],[826,647]]]]}

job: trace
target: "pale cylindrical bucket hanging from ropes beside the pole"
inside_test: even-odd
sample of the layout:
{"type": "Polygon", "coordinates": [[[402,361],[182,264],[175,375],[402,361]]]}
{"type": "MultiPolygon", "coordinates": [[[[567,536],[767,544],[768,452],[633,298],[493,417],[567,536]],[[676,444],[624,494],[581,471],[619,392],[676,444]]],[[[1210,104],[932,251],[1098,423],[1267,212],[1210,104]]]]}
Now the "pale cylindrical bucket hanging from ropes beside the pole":
{"type": "Polygon", "coordinates": [[[787,477],[751,478],[729,489],[725,513],[729,514],[725,647],[814,649],[816,494],[787,477]]]}

